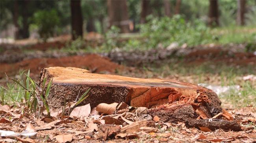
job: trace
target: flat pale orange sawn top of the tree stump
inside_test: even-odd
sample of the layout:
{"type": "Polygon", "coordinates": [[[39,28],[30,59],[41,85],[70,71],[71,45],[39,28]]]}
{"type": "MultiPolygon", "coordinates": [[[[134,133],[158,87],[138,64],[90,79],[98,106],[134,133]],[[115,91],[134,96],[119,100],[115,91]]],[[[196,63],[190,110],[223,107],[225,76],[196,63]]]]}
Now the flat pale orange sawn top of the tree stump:
{"type": "Polygon", "coordinates": [[[125,87],[176,87],[206,90],[206,88],[204,87],[182,81],[161,80],[152,78],[133,78],[128,76],[118,76],[110,74],[95,74],[90,73],[85,69],[79,69],[74,67],[49,67],[46,68],[46,70],[49,72],[48,74],[52,74],[54,76],[54,83],[101,84],[125,87]]]}

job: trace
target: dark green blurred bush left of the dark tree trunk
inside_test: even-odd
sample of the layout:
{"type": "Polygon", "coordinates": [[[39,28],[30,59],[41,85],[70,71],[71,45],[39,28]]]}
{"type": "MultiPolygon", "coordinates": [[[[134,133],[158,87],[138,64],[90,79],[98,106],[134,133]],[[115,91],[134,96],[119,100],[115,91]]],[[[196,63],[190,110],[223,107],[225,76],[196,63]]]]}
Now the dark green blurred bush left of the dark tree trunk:
{"type": "Polygon", "coordinates": [[[33,23],[39,28],[38,32],[41,38],[46,41],[53,35],[54,28],[59,24],[58,13],[55,9],[38,10],[33,14],[33,23]]]}

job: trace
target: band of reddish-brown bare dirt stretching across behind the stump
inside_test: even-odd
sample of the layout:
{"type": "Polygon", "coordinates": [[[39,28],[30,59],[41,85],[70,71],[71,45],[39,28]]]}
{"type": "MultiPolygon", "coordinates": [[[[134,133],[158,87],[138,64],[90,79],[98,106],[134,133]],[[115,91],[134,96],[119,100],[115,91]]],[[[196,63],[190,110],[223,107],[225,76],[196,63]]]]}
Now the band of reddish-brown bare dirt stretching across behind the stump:
{"type": "Polygon", "coordinates": [[[100,53],[101,56],[97,54],[68,56],[67,54],[49,54],[43,52],[48,48],[61,49],[64,45],[63,42],[38,43],[24,47],[7,44],[1,45],[0,78],[5,76],[5,72],[11,76],[18,74],[19,70],[22,69],[30,69],[32,75],[38,74],[43,67],[51,66],[71,66],[89,69],[96,73],[105,72],[113,74],[124,68],[124,66],[120,65],[121,63],[127,66],[137,67],[145,63],[163,63],[169,59],[174,60],[176,63],[182,60],[184,63],[195,65],[200,65],[208,61],[232,65],[256,65],[256,55],[252,52],[245,52],[245,44],[212,44],[171,50],[112,51],[109,53],[100,53]],[[22,52],[24,49],[33,49],[36,51],[35,54],[31,55],[22,52]]]}

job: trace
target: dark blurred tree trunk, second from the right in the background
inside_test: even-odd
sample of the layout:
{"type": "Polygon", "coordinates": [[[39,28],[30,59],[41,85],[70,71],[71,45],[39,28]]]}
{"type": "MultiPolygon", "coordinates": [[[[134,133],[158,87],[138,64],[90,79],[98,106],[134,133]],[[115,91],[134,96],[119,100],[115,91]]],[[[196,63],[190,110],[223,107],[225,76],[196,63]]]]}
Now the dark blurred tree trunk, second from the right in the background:
{"type": "Polygon", "coordinates": [[[218,26],[219,25],[219,12],[218,11],[219,11],[218,1],[210,0],[208,25],[210,25],[210,26],[218,26]]]}

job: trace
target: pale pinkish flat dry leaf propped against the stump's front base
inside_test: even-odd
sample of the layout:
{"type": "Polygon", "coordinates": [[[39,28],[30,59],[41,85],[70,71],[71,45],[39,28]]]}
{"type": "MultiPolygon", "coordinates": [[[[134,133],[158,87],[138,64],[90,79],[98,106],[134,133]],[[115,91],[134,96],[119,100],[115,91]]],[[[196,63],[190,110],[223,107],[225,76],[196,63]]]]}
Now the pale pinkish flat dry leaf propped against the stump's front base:
{"type": "Polygon", "coordinates": [[[74,116],[74,117],[80,117],[80,116],[89,116],[89,114],[91,113],[91,106],[90,103],[87,105],[83,105],[80,107],[76,107],[70,114],[70,116],[74,116]]]}

